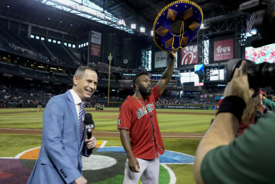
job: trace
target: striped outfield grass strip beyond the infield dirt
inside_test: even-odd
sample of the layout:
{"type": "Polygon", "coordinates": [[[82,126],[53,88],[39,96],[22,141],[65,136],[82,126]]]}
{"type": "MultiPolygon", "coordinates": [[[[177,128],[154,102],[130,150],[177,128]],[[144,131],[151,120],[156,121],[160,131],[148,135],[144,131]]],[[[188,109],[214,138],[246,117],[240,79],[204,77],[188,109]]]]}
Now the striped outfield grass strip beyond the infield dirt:
{"type": "MultiPolygon", "coordinates": [[[[88,112],[93,110],[96,131],[117,132],[118,108],[105,108],[113,112],[95,111],[94,108],[87,108],[88,112]]],[[[161,132],[206,132],[210,120],[214,117],[212,110],[164,110],[157,109],[158,112],[196,112],[213,113],[213,115],[195,114],[157,114],[161,132]]],[[[30,108],[25,109],[0,109],[0,127],[42,129],[43,112],[36,112],[30,108]],[[11,113],[17,112],[17,113],[11,113]],[[25,113],[28,112],[28,113],[25,113]]]]}

